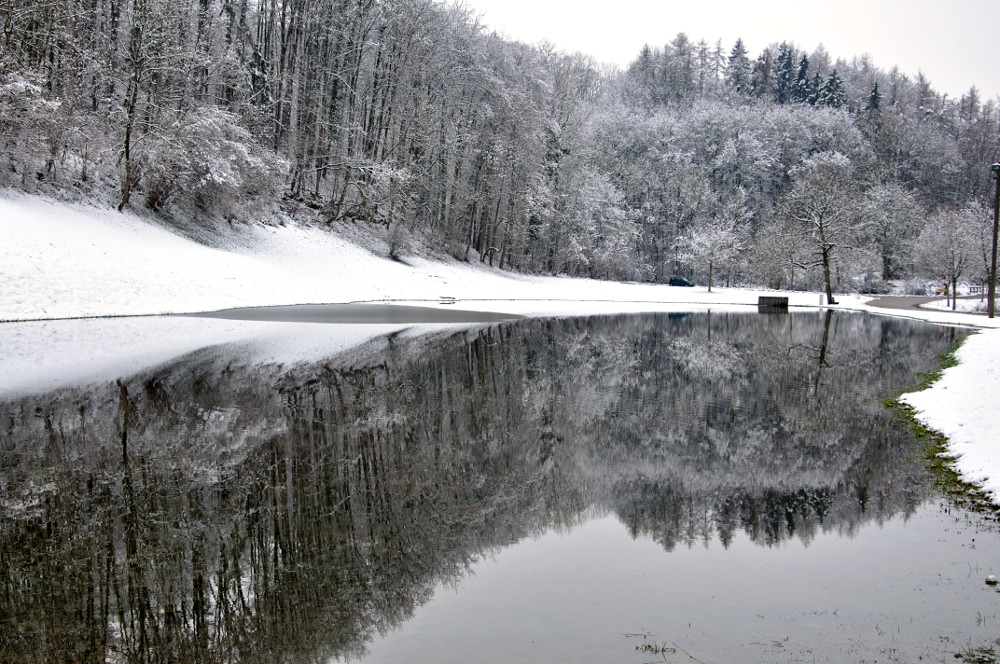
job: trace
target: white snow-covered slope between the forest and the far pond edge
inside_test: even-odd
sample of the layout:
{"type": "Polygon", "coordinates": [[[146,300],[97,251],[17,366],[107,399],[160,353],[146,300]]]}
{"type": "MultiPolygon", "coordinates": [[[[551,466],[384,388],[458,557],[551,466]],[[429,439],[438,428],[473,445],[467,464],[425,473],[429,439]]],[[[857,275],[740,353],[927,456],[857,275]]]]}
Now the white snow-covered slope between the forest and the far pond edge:
{"type": "MultiPolygon", "coordinates": [[[[510,313],[756,304],[752,290],[528,277],[482,264],[375,255],[289,221],[199,244],[136,213],[0,193],[0,320],[359,301],[489,302],[510,313]],[[581,306],[580,303],[585,303],[581,306]]],[[[789,293],[813,306],[815,293],[789,293]]]]}

